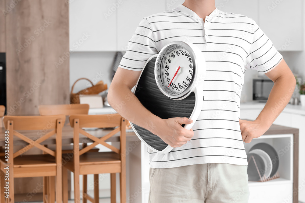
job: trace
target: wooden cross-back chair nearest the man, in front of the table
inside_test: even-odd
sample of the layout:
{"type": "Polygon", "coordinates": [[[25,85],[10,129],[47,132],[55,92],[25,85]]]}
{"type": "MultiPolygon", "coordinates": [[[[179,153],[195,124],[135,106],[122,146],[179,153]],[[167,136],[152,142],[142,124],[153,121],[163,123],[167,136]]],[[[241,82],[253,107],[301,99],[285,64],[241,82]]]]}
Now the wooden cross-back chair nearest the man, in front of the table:
{"type": "MultiPolygon", "coordinates": [[[[111,182],[111,203],[116,202],[116,173],[120,173],[120,200],[126,202],[126,122],[127,120],[119,114],[107,115],[71,115],[69,117],[70,125],[74,128],[74,156],[64,165],[74,173],[74,198],[75,202],[80,202],[80,174],[94,174],[94,198],[87,194],[87,187],[84,184],[83,202],[99,202],[99,173],[110,173],[111,182]],[[82,128],[112,128],[117,127],[102,138],[97,138],[82,128]],[[108,138],[120,132],[120,149],[105,142],[108,138]],[[79,150],[79,134],[82,134],[94,143],[79,150]],[[102,144],[111,149],[111,152],[93,152],[85,153],[94,146],[102,144]]],[[[63,157],[65,155],[63,154],[63,157]]],[[[67,181],[66,179],[64,181],[67,181]]],[[[85,180],[86,181],[86,180],[85,180]]],[[[65,187],[63,192],[67,193],[65,187]]],[[[64,203],[67,200],[63,199],[64,203]]]]}

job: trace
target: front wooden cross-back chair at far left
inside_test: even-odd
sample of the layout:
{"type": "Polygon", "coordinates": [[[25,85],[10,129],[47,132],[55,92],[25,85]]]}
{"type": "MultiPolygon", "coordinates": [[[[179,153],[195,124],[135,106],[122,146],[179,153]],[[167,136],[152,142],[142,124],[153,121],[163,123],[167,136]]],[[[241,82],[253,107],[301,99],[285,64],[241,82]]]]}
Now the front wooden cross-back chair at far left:
{"type": "MultiPolygon", "coordinates": [[[[9,144],[9,152],[0,157],[0,171],[3,175],[5,167],[9,166],[9,202],[14,202],[14,178],[15,177],[56,177],[56,189],[48,187],[49,194],[56,191],[56,202],[62,202],[62,152],[61,136],[62,127],[66,117],[64,115],[54,116],[5,116],[3,118],[9,144]],[[48,132],[45,130],[48,129],[48,132]],[[18,132],[19,130],[33,130],[35,134],[40,132],[41,137],[32,140],[18,132]],[[43,135],[43,133],[45,135],[43,135]],[[52,151],[40,143],[56,135],[56,151],[52,151]],[[14,152],[14,136],[28,143],[23,149],[14,152]],[[29,149],[36,147],[47,154],[22,155],[29,149]],[[6,160],[8,159],[8,160],[6,160]],[[6,164],[9,165],[6,165],[6,164]]],[[[5,184],[4,176],[1,176],[1,202],[4,202],[5,184]]],[[[54,186],[54,185],[53,185],[54,186]]],[[[55,195],[46,196],[44,202],[53,203],[55,195]]]]}

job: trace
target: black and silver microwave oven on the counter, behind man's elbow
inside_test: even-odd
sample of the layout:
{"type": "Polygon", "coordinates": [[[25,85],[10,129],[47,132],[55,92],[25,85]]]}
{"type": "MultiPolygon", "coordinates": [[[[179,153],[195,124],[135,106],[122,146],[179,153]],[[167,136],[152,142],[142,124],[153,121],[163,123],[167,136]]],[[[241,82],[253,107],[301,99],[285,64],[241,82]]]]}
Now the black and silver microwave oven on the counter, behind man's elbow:
{"type": "Polygon", "coordinates": [[[269,78],[253,79],[253,100],[266,102],[274,82],[269,78]]]}

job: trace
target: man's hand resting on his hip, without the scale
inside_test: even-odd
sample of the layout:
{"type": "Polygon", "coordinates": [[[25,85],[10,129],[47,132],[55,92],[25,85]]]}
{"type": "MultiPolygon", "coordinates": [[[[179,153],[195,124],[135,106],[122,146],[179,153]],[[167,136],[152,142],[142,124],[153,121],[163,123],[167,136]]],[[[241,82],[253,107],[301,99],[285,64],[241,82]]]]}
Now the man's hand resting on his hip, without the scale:
{"type": "Polygon", "coordinates": [[[268,128],[258,121],[239,120],[240,132],[242,133],[242,141],[250,143],[253,138],[263,135],[268,128]]]}

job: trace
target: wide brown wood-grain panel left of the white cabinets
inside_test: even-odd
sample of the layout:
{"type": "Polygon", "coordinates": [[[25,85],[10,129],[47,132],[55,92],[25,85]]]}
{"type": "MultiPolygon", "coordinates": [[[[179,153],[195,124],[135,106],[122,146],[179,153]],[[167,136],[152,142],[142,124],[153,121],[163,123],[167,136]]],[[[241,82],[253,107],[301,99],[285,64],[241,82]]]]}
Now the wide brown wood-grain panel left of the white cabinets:
{"type": "Polygon", "coordinates": [[[7,114],[69,103],[68,1],[4,1],[11,8],[5,13],[7,114]]]}

